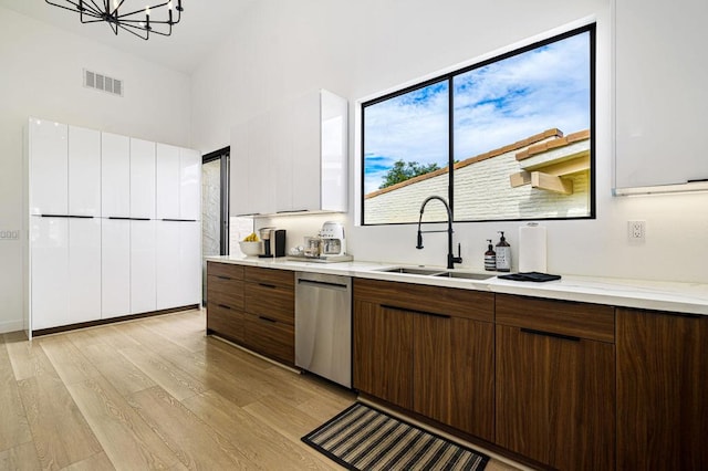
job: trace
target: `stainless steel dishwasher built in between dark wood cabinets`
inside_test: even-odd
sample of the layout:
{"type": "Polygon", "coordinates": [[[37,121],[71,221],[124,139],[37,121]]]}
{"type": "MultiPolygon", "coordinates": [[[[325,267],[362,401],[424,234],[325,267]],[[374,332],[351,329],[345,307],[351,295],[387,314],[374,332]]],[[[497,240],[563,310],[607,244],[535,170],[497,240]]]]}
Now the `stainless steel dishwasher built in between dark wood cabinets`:
{"type": "Polygon", "coordinates": [[[295,272],[295,365],[352,387],[352,279],[295,272]]]}

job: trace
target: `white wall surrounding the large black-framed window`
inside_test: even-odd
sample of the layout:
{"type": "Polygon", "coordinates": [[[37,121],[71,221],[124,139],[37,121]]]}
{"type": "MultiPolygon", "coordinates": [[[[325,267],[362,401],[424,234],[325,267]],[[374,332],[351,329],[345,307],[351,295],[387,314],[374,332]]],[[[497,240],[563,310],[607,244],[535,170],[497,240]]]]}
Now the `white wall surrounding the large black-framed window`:
{"type": "MultiPolygon", "coordinates": [[[[356,123],[357,101],[592,15],[597,19],[598,52],[597,218],[543,223],[549,234],[549,271],[708,282],[708,195],[611,196],[610,7],[610,0],[258,2],[233,25],[229,41],[192,75],[195,144],[209,149],[226,146],[236,123],[319,87],[347,97],[352,123],[356,123]],[[635,219],[646,221],[644,244],[627,241],[626,222],[635,219]]],[[[354,207],[360,188],[356,124],[350,137],[354,207]]],[[[356,259],[445,263],[444,234],[429,234],[426,249],[417,251],[414,226],[355,227],[355,220],[351,209],[348,244],[356,259]]],[[[316,230],[320,222],[303,220],[308,227],[301,232],[316,230]]],[[[518,228],[518,222],[456,224],[464,265],[481,269],[485,239],[497,241],[498,230],[507,231],[516,245],[518,228]]]]}

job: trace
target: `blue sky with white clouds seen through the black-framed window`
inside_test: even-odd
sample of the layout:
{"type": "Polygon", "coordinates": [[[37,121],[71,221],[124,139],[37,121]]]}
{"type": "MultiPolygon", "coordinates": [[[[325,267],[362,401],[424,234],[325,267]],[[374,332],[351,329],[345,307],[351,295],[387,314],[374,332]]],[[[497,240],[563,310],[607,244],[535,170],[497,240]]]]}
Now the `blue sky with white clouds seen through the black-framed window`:
{"type": "MultiPolygon", "coordinates": [[[[475,69],[452,81],[455,160],[550,128],[590,127],[590,33],[475,69]]],[[[448,164],[448,82],[364,111],[364,190],[378,189],[393,164],[448,164]]]]}

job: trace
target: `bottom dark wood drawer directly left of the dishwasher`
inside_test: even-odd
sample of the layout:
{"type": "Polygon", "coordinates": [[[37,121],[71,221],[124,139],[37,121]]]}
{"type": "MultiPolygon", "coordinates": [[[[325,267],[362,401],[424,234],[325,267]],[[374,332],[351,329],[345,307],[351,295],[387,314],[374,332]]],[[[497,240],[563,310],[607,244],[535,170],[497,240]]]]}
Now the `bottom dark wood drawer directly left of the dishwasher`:
{"type": "Polygon", "coordinates": [[[243,327],[243,345],[289,365],[295,363],[295,331],[292,325],[246,314],[243,327]]]}

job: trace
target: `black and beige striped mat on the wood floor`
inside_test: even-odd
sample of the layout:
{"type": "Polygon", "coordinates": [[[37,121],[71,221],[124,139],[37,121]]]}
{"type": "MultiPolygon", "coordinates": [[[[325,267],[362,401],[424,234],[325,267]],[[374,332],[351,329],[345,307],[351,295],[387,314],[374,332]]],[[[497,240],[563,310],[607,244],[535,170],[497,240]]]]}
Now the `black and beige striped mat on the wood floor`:
{"type": "Polygon", "coordinates": [[[302,441],[350,470],[483,470],[489,457],[364,404],[354,404],[302,441]]]}

